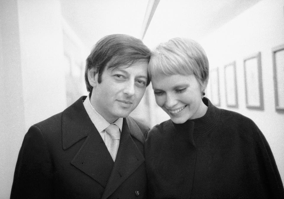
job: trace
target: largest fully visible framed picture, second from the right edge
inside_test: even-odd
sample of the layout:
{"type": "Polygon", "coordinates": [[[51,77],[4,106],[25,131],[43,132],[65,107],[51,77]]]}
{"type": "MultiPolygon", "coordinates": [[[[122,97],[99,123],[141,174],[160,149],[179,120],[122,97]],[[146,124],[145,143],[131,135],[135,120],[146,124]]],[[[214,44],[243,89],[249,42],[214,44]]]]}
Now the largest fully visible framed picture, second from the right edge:
{"type": "Polygon", "coordinates": [[[261,53],[244,59],[246,107],[264,110],[261,53]]]}

